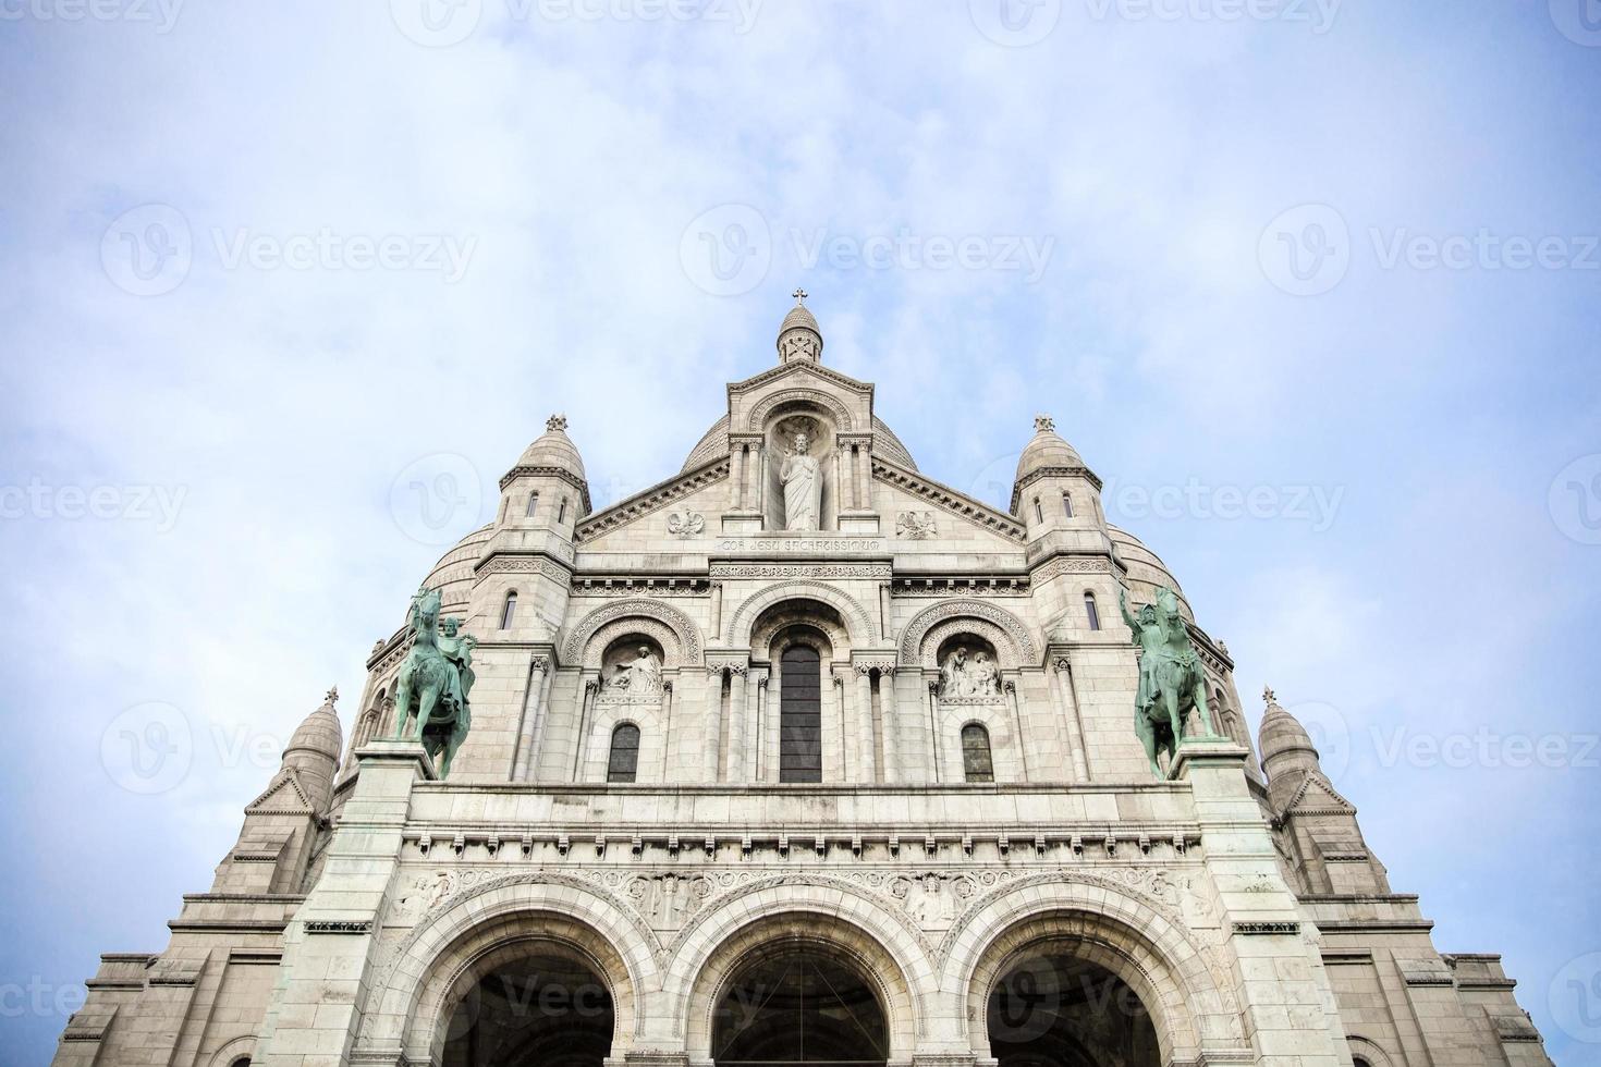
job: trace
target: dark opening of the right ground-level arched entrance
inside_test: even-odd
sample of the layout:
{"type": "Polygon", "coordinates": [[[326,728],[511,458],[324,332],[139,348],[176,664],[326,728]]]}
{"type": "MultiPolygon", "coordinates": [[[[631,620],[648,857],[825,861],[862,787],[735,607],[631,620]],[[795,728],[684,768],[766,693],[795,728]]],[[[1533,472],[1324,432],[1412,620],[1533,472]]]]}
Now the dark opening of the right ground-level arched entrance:
{"type": "Polygon", "coordinates": [[[1151,1016],[1127,982],[1049,947],[1013,960],[989,992],[999,1067],[1159,1067],[1151,1016]]]}

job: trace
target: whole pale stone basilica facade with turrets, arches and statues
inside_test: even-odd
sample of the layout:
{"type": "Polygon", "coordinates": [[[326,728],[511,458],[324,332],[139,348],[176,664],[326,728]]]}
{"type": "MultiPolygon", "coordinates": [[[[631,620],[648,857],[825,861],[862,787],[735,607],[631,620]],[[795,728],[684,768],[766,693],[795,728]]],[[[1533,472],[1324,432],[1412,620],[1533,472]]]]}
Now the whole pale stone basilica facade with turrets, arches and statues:
{"type": "Polygon", "coordinates": [[[1049,418],[959,493],[799,304],[727,400],[600,510],[552,418],[56,1062],[1548,1062],[1049,418]]]}

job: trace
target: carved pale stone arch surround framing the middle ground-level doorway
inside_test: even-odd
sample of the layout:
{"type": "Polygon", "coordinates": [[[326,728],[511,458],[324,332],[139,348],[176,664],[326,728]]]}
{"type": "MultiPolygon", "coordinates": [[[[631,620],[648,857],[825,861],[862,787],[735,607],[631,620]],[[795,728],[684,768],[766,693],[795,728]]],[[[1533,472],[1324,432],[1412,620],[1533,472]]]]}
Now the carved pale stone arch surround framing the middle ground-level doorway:
{"type": "Polygon", "coordinates": [[[911,1059],[929,1000],[938,995],[930,945],[849,883],[780,875],[724,897],[671,949],[664,1003],[692,1062],[711,1061],[712,1016],[724,990],[740,965],[768,945],[815,947],[850,961],[879,993],[890,1062],[911,1059]]]}

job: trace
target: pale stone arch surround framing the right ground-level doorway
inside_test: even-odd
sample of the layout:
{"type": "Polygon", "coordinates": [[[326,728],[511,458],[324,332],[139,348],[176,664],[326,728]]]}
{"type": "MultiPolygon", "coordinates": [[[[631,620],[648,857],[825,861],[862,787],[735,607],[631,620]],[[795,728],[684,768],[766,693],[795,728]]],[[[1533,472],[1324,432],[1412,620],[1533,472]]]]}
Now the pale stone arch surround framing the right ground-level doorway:
{"type": "Polygon", "coordinates": [[[1164,1064],[1198,1059],[1202,1035],[1222,1037],[1228,1049],[1247,1046],[1225,985],[1153,901],[1111,885],[1028,878],[946,936],[941,985],[962,998],[964,1033],[980,1056],[989,1048],[989,993],[1042,945],[1061,945],[1122,979],[1151,1016],[1164,1064]]]}

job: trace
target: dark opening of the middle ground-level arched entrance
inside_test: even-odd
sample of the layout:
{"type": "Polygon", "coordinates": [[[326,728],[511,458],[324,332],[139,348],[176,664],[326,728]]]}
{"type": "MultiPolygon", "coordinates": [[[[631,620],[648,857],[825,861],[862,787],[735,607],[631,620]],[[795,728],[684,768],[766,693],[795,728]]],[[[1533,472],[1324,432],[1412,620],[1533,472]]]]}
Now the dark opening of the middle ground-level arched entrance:
{"type": "Polygon", "coordinates": [[[812,945],[764,952],[727,982],[712,1014],[717,1067],[882,1067],[889,1027],[873,985],[812,945]]]}

